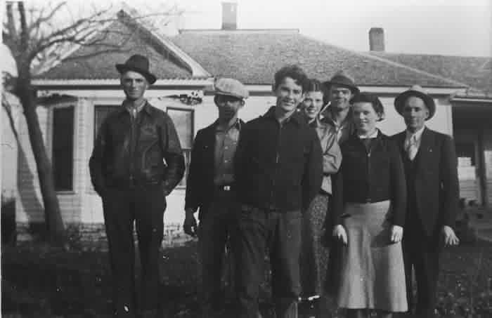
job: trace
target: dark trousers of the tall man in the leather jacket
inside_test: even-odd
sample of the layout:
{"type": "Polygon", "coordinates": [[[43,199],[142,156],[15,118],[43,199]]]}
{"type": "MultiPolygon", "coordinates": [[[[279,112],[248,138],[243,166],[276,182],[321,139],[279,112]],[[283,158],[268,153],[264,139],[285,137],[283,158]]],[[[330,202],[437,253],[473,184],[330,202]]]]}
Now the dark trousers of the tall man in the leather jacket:
{"type": "Polygon", "coordinates": [[[162,185],[109,189],[103,210],[112,270],[114,317],[135,317],[157,310],[159,299],[159,249],[164,234],[166,201],[162,185]],[[141,297],[136,301],[134,221],[141,260],[141,297]],[[137,310],[138,305],[138,310],[137,310]]]}

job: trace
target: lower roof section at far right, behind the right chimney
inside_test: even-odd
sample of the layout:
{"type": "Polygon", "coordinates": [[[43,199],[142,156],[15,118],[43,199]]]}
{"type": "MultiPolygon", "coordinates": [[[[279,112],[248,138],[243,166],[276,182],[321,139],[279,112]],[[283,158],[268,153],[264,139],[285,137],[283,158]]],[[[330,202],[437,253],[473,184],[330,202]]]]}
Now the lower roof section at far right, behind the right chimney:
{"type": "Polygon", "coordinates": [[[472,88],[492,93],[492,58],[451,55],[423,55],[370,52],[409,67],[466,83],[472,88]]]}

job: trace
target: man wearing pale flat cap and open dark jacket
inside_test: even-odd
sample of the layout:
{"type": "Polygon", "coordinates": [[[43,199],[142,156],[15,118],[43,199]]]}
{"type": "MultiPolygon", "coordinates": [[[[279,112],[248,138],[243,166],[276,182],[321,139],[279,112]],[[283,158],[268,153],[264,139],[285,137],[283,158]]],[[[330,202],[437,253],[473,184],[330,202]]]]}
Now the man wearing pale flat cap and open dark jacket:
{"type": "MultiPolygon", "coordinates": [[[[221,277],[224,251],[238,210],[234,187],[234,155],[244,123],[238,119],[248,91],[235,79],[218,79],[214,102],[219,118],[198,131],[186,183],[184,231],[198,234],[202,260],[202,317],[224,310],[221,277]],[[193,214],[200,209],[200,227],[193,214]]],[[[232,260],[231,257],[228,258],[232,260]]]]}

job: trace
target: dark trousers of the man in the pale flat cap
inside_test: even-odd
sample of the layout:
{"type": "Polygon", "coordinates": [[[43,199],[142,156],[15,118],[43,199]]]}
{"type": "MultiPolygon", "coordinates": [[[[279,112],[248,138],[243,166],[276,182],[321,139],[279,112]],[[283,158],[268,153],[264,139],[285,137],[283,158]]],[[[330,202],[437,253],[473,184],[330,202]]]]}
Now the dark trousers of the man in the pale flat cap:
{"type": "MultiPolygon", "coordinates": [[[[224,260],[228,238],[233,230],[238,203],[233,191],[217,190],[212,203],[200,211],[198,244],[202,260],[202,312],[212,317],[224,308],[225,293],[221,284],[224,265],[231,265],[231,255],[224,260]]],[[[231,250],[228,249],[228,253],[231,250]]],[[[231,272],[231,269],[228,271],[231,272]]]]}

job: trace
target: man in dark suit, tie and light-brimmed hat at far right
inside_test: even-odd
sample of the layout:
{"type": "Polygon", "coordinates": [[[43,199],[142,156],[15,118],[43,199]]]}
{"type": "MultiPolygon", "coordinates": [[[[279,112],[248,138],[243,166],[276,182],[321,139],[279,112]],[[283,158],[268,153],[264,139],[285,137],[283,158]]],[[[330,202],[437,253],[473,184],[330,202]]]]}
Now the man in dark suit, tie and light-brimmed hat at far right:
{"type": "Polygon", "coordinates": [[[403,237],[408,306],[413,300],[413,268],[416,317],[434,317],[442,247],[459,243],[453,231],[459,199],[455,146],[450,136],[425,126],[436,105],[420,86],[398,95],[394,106],[407,126],[393,138],[401,150],[408,191],[403,237]]]}

